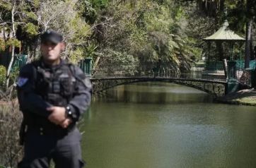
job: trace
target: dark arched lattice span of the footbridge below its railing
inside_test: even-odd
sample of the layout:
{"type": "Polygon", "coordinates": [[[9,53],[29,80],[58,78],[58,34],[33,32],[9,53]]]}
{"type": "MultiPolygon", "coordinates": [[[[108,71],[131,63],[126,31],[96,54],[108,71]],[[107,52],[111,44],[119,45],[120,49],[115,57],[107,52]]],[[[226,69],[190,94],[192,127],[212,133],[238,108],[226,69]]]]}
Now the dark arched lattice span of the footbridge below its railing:
{"type": "Polygon", "coordinates": [[[187,85],[204,92],[208,92],[214,96],[223,96],[226,94],[227,83],[221,80],[206,80],[194,78],[170,78],[170,77],[106,77],[106,78],[91,78],[93,83],[93,92],[101,92],[117,85],[125,85],[129,83],[141,82],[165,82],[177,83],[179,85],[187,85]]]}

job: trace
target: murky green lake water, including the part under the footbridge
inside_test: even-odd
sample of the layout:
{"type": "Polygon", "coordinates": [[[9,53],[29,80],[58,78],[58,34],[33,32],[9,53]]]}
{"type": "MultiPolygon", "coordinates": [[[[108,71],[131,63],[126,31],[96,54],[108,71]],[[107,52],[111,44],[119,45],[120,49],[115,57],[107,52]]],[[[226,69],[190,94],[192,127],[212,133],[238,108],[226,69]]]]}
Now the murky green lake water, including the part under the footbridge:
{"type": "Polygon", "coordinates": [[[170,83],[94,95],[81,122],[87,168],[256,167],[256,107],[170,83]]]}

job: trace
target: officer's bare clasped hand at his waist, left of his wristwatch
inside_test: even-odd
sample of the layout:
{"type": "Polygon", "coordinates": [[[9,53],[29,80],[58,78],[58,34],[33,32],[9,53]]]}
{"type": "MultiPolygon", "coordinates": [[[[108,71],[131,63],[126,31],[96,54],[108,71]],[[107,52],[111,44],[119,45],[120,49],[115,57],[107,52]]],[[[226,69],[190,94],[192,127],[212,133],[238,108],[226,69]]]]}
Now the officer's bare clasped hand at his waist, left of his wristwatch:
{"type": "Polygon", "coordinates": [[[47,108],[47,111],[51,112],[50,116],[48,116],[48,119],[54,124],[59,125],[66,119],[66,109],[64,107],[53,106],[47,108]]]}

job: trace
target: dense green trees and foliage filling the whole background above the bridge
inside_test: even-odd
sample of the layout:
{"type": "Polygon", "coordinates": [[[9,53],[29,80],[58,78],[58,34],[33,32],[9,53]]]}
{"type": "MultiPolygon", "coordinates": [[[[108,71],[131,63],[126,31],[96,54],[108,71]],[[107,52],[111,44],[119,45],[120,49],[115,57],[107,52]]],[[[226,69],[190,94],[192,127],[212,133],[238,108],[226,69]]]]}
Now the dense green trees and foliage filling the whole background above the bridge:
{"type": "MultiPolygon", "coordinates": [[[[221,25],[224,8],[228,18],[245,37],[246,25],[255,19],[254,1],[176,0],[1,0],[0,49],[22,47],[29,59],[40,53],[38,37],[47,29],[65,36],[64,58],[77,63],[93,58],[94,73],[120,65],[129,74],[152,71],[165,63],[164,71],[190,71],[192,62],[206,50],[202,38],[221,25]],[[246,4],[248,2],[248,4],[246,4]]],[[[250,27],[252,30],[253,26],[250,27]]],[[[252,31],[251,31],[252,32],[252,31]]],[[[250,52],[252,52],[252,35],[250,52]]],[[[252,55],[252,53],[251,53],[252,55]]],[[[6,69],[10,78],[11,64],[6,69]]],[[[9,79],[8,79],[9,80],[9,79]]],[[[8,85],[8,80],[6,85],[8,85]]]]}

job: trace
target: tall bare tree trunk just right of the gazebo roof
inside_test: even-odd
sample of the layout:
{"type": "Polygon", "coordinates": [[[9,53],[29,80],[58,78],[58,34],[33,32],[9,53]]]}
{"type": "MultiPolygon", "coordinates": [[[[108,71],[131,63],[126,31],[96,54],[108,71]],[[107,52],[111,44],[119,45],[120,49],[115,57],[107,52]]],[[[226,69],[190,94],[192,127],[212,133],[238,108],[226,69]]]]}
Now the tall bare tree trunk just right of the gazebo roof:
{"type": "Polygon", "coordinates": [[[245,68],[250,66],[250,44],[252,36],[252,19],[246,23],[246,41],[245,41],[245,68]]]}

